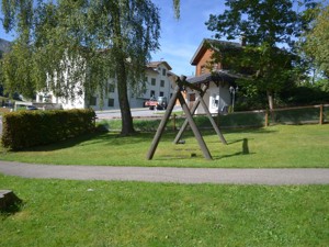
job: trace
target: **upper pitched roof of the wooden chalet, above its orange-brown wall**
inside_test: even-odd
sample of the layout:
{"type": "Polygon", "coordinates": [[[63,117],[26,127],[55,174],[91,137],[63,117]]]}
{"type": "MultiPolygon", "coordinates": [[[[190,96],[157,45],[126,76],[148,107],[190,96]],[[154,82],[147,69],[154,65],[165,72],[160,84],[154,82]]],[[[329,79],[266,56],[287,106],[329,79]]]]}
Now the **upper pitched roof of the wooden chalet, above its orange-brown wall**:
{"type": "Polygon", "coordinates": [[[194,53],[190,64],[191,65],[197,65],[197,61],[202,58],[204,53],[207,49],[217,49],[216,46],[227,47],[227,48],[240,48],[241,44],[237,42],[227,42],[227,41],[218,41],[218,40],[212,40],[212,38],[203,38],[200,46],[197,47],[196,52],[194,53]]]}

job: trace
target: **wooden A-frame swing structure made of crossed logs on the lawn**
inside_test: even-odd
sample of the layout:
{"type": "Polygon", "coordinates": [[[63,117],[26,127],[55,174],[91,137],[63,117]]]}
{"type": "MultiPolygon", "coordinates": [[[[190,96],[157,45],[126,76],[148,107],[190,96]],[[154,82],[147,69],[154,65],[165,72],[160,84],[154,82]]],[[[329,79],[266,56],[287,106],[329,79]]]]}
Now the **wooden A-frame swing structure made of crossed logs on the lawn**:
{"type": "Polygon", "coordinates": [[[223,134],[220,133],[218,126],[216,125],[214,119],[212,117],[212,114],[211,114],[211,112],[209,112],[206,103],[203,100],[203,96],[207,91],[208,85],[204,85],[202,88],[198,88],[198,87],[196,87],[196,86],[194,86],[192,83],[189,83],[186,81],[186,77],[177,78],[174,85],[175,85],[175,87],[174,87],[172,97],[171,97],[171,99],[169,101],[169,104],[167,106],[166,113],[164,113],[164,115],[163,115],[163,117],[162,117],[162,120],[161,120],[161,122],[160,122],[160,124],[158,126],[157,133],[156,133],[156,135],[154,137],[154,141],[151,143],[150,149],[147,153],[147,159],[152,159],[152,157],[154,157],[154,155],[156,153],[156,149],[158,147],[158,144],[160,142],[160,138],[161,138],[161,136],[163,134],[166,124],[167,124],[167,122],[168,122],[168,120],[169,120],[169,117],[171,115],[171,112],[172,112],[172,110],[174,108],[174,104],[175,104],[177,100],[179,100],[179,102],[180,102],[180,104],[181,104],[181,106],[182,106],[182,109],[183,109],[183,111],[184,111],[184,113],[186,115],[186,119],[185,119],[184,123],[182,124],[179,133],[177,134],[173,143],[174,144],[179,143],[179,141],[180,141],[183,132],[185,131],[188,124],[190,124],[190,126],[191,126],[191,128],[193,131],[193,134],[194,134],[194,136],[195,136],[195,138],[196,138],[196,141],[198,143],[198,146],[200,146],[200,148],[201,148],[204,157],[206,159],[213,159],[212,155],[211,155],[211,153],[209,153],[209,150],[208,150],[208,148],[207,148],[207,146],[206,146],[206,144],[205,144],[205,142],[204,142],[204,139],[203,139],[203,137],[202,137],[202,135],[201,135],[201,133],[200,133],[200,131],[198,131],[198,128],[197,128],[197,126],[196,126],[196,124],[194,122],[194,120],[193,120],[193,114],[195,113],[197,106],[201,103],[202,106],[203,106],[203,109],[205,110],[206,115],[209,119],[209,121],[211,121],[214,130],[216,131],[217,135],[219,136],[220,142],[223,144],[225,144],[225,145],[227,144],[226,139],[224,138],[223,134]],[[190,109],[189,109],[189,106],[188,106],[188,104],[186,104],[186,102],[185,102],[185,100],[184,100],[184,98],[183,98],[183,96],[181,93],[181,91],[184,88],[190,88],[190,89],[194,90],[195,94],[196,94],[196,100],[195,100],[195,102],[194,102],[191,111],[190,111],[190,109]]]}

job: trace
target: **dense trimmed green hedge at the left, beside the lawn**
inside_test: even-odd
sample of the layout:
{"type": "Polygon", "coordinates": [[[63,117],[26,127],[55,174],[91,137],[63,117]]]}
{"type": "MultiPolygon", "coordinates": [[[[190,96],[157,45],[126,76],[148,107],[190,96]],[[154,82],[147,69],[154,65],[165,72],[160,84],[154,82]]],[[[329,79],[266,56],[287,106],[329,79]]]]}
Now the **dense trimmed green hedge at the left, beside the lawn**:
{"type": "Polygon", "coordinates": [[[93,110],[20,111],[3,115],[2,145],[18,150],[71,138],[94,130],[93,110]]]}

